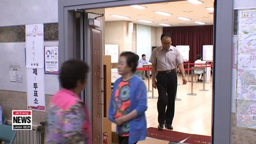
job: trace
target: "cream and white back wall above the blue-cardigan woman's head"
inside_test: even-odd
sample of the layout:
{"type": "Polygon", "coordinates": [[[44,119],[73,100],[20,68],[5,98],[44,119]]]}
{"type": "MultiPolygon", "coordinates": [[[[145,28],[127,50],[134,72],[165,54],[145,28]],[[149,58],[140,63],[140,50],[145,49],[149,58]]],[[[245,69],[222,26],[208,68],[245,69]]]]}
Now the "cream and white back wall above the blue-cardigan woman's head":
{"type": "Polygon", "coordinates": [[[119,53],[131,51],[142,54],[149,60],[152,46],[160,46],[162,27],[138,25],[133,23],[133,32],[128,32],[127,21],[105,22],[105,44],[118,44],[119,53]]]}

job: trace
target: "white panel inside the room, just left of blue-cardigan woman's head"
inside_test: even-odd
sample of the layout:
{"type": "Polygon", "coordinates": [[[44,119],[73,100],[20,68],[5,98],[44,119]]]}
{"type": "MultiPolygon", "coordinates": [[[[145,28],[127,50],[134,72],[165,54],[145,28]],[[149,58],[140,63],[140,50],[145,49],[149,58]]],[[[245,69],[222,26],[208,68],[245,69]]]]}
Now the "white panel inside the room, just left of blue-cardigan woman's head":
{"type": "Polygon", "coordinates": [[[117,44],[105,44],[105,55],[111,56],[111,63],[118,62],[118,45],[117,44]]]}

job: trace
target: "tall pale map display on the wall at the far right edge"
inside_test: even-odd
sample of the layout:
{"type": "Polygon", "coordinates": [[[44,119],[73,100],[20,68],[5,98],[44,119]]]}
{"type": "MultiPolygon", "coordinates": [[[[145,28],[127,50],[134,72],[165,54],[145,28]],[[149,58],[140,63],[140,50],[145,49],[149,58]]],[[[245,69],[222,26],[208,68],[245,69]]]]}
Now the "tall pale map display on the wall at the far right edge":
{"type": "Polygon", "coordinates": [[[256,9],[239,10],[237,127],[256,128],[256,9]]]}

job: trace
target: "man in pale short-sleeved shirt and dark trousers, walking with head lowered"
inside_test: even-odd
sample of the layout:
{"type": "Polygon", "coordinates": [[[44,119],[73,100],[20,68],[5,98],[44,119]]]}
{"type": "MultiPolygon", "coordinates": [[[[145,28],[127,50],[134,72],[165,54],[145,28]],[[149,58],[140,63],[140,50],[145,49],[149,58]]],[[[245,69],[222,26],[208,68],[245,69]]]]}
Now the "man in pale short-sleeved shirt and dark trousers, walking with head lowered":
{"type": "Polygon", "coordinates": [[[187,80],[180,52],[176,47],[171,46],[171,34],[162,34],[160,40],[162,46],[154,49],[150,57],[150,62],[152,63],[152,86],[157,88],[159,95],[157,100],[158,128],[162,130],[163,125],[165,125],[167,129],[172,130],[177,93],[177,66],[182,74],[183,85],[186,85],[187,80]]]}

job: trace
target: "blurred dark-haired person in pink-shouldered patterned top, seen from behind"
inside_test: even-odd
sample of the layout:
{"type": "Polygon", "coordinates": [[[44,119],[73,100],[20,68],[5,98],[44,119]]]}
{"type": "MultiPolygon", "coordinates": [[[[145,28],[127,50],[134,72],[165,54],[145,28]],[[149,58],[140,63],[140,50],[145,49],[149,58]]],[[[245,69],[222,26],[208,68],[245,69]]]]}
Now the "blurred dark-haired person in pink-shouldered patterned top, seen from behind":
{"type": "Polygon", "coordinates": [[[60,89],[47,109],[46,143],[91,143],[87,106],[78,96],[85,88],[88,65],[72,59],[62,64],[60,89]]]}

